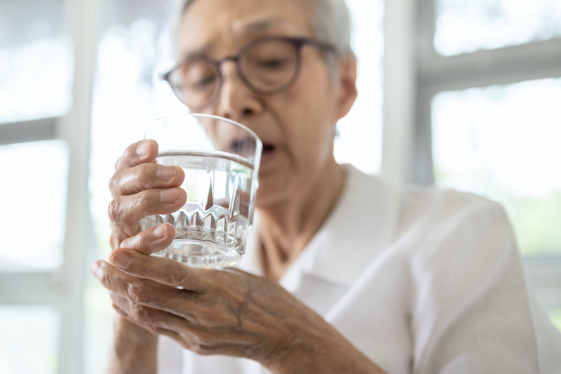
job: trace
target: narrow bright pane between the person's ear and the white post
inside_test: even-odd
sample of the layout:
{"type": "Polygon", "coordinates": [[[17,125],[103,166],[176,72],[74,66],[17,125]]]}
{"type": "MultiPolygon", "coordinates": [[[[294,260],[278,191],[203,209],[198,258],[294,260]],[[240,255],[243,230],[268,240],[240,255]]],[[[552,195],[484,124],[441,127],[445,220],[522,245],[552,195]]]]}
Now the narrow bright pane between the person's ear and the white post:
{"type": "Polygon", "coordinates": [[[358,58],[358,98],[337,124],[335,158],[353,163],[366,173],[381,166],[382,58],[384,3],[347,0],[354,21],[353,49],[358,58]]]}

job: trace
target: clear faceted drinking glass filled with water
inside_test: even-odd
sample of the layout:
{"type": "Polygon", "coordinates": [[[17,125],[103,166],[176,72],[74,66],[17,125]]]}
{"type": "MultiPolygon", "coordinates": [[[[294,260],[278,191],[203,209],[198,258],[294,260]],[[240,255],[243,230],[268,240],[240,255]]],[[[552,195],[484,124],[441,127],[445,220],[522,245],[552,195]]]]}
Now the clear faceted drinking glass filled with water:
{"type": "Polygon", "coordinates": [[[249,128],[219,116],[180,114],[147,126],[158,142],[156,163],[180,166],[187,202],[171,214],[149,215],[142,229],[175,227],[173,243],[154,255],[190,267],[234,265],[252,227],[262,142],[249,128]]]}

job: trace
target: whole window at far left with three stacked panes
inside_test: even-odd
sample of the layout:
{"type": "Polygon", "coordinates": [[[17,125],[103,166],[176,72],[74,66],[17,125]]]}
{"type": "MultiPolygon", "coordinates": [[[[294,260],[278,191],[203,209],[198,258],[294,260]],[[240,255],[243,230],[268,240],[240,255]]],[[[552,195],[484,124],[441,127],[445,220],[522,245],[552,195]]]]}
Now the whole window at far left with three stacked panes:
{"type": "Polygon", "coordinates": [[[1,373],[82,372],[93,3],[0,4],[1,373]]]}

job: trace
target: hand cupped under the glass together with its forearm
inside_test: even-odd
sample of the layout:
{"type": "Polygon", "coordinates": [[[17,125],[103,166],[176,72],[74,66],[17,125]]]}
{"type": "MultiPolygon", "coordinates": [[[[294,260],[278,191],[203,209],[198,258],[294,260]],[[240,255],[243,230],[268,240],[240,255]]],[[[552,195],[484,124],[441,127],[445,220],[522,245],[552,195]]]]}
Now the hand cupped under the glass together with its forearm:
{"type": "Polygon", "coordinates": [[[111,264],[93,265],[124,318],[197,354],[245,357],[273,373],[384,373],[278,283],[150,256],[174,235],[167,224],[147,229],[112,251],[111,264]]]}

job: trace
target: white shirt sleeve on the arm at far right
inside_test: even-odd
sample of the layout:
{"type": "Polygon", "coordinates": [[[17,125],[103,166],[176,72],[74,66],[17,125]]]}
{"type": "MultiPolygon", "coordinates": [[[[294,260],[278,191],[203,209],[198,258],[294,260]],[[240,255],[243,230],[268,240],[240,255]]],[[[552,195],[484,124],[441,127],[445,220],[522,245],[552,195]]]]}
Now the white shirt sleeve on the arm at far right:
{"type": "Polygon", "coordinates": [[[529,293],[502,208],[446,192],[419,225],[413,372],[559,373],[559,333],[529,293]]]}

